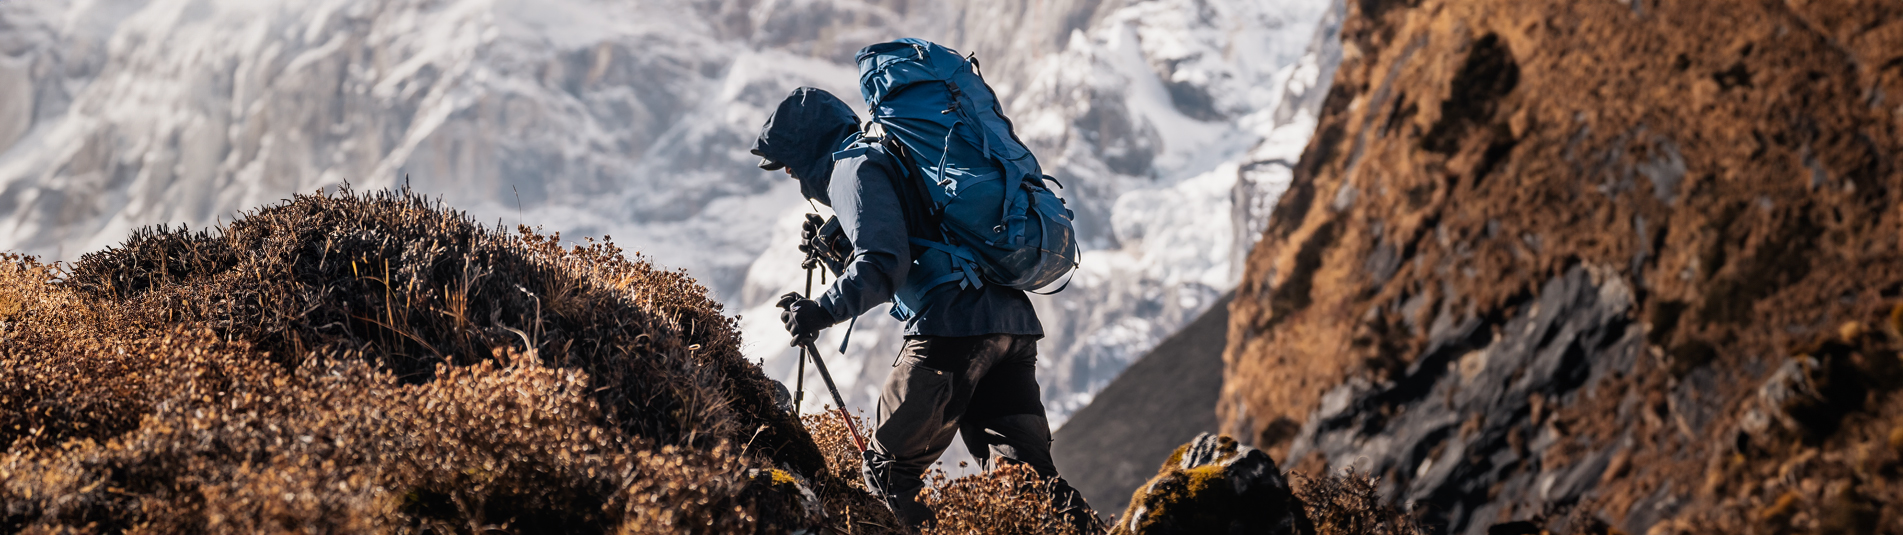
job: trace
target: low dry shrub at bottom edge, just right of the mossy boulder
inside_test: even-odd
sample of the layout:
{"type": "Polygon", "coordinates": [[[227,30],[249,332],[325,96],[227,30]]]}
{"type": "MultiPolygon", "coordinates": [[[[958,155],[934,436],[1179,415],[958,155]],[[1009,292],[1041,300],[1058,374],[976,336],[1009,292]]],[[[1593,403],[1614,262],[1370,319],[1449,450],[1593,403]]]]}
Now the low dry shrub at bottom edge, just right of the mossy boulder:
{"type": "Polygon", "coordinates": [[[1414,514],[1393,508],[1376,493],[1376,480],[1347,468],[1311,478],[1288,472],[1290,485],[1317,535],[1427,535],[1414,514]]]}

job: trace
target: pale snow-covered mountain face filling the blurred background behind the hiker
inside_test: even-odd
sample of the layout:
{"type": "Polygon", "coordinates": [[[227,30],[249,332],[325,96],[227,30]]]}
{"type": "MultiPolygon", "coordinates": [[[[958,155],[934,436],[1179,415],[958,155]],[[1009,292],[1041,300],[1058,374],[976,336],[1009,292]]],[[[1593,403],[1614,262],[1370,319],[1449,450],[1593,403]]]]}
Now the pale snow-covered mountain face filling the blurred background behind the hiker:
{"type": "MultiPolygon", "coordinates": [[[[206,227],[291,192],[407,185],[483,221],[611,234],[691,270],[744,314],[750,354],[792,383],[767,305],[803,289],[794,236],[811,208],[746,147],[790,89],[858,105],[853,51],[923,36],[978,53],[1079,213],[1083,268],[1037,301],[1045,398],[1062,423],[1235,286],[1313,129],[1332,59],[1304,50],[1328,10],[10,0],[0,249],[74,259],[141,225],[206,227]]],[[[843,333],[830,331],[834,348],[843,333]]],[[[830,356],[851,404],[873,409],[900,343],[875,310],[830,356]]]]}

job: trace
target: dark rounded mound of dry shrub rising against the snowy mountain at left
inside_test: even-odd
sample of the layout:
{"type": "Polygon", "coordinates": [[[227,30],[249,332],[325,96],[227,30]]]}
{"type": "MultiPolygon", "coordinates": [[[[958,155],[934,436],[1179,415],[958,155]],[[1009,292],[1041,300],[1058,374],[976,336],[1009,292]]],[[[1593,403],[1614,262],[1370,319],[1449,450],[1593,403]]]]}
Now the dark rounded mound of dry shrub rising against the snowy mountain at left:
{"type": "Polygon", "coordinates": [[[207,326],[287,366],[356,350],[405,383],[514,347],[588,371],[630,434],[754,440],[820,468],[704,287],[611,242],[563,249],[559,238],[481,227],[407,190],[346,190],[245,213],[223,232],[139,228],[80,257],[63,286],[118,308],[112,329],[207,326]]]}

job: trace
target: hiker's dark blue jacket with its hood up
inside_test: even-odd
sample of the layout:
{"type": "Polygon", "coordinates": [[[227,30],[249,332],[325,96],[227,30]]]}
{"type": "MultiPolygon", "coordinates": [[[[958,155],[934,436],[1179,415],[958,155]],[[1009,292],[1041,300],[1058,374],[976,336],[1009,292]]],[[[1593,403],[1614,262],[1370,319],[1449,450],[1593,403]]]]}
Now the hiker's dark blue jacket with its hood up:
{"type": "Polygon", "coordinates": [[[795,89],[767,120],[754,152],[794,169],[801,194],[832,206],[853,240],[845,272],[816,299],[835,324],[891,301],[908,337],[1045,333],[1018,289],[938,286],[932,295],[919,295],[931,280],[952,272],[952,259],[910,244],[906,208],[894,188],[894,181],[906,179],[898,158],[860,143],[858,114],[832,93],[795,89]],[[853,156],[835,162],[834,154],[847,149],[841,154],[853,156]]]}

